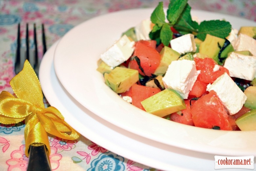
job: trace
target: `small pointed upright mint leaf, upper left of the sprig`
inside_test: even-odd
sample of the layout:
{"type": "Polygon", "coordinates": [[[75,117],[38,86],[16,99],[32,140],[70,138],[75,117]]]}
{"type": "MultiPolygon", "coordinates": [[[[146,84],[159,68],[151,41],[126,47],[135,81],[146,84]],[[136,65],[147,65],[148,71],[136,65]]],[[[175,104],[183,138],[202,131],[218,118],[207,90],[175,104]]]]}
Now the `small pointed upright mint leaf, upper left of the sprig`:
{"type": "Polygon", "coordinates": [[[165,14],[163,11],[163,2],[159,2],[158,6],[151,14],[150,20],[152,23],[162,26],[165,23],[165,14]]]}

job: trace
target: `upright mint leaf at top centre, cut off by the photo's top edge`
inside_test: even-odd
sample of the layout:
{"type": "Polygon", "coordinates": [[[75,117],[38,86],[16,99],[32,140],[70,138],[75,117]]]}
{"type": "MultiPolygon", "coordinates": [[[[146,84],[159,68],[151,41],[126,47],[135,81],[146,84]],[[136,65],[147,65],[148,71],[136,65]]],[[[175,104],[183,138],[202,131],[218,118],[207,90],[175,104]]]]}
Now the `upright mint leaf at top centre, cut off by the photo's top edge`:
{"type": "Polygon", "coordinates": [[[170,24],[175,24],[179,19],[188,0],[172,0],[167,9],[167,20],[170,24]]]}

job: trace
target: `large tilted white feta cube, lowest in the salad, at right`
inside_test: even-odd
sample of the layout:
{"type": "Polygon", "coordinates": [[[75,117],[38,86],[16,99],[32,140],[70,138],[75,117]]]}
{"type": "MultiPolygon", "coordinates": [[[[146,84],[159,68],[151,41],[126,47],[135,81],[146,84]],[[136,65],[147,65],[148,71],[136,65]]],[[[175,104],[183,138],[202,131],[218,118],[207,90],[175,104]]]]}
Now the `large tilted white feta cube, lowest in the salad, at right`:
{"type": "Polygon", "coordinates": [[[243,107],[247,98],[226,72],[212,84],[208,84],[206,90],[214,90],[217,93],[230,115],[236,114],[243,107]]]}

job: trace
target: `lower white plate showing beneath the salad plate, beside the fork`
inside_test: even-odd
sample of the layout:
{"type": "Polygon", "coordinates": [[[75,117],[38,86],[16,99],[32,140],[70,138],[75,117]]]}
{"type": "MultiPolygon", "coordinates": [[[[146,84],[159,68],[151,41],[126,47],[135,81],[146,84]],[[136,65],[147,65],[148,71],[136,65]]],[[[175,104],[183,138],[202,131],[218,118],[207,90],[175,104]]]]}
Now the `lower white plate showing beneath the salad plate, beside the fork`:
{"type": "Polygon", "coordinates": [[[48,102],[83,136],[118,155],[161,170],[214,170],[214,155],[171,147],[107,122],[77,102],[60,84],[53,68],[56,44],[46,52],[39,80],[48,102]],[[200,163],[200,164],[199,164],[200,163]]]}

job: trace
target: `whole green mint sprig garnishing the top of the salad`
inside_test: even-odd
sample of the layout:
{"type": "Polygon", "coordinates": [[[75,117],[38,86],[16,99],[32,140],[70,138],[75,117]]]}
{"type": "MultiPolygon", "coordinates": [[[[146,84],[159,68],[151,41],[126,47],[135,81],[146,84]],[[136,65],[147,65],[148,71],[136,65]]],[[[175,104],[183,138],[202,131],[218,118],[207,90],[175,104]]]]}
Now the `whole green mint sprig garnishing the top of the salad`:
{"type": "Polygon", "coordinates": [[[181,34],[194,34],[198,39],[204,40],[206,34],[224,39],[231,32],[231,24],[223,20],[203,21],[198,24],[191,18],[191,7],[188,0],[170,0],[166,19],[163,10],[163,2],[160,2],[151,14],[151,22],[154,27],[149,34],[150,39],[156,40],[158,44],[163,43],[168,46],[175,28],[181,34]]]}

